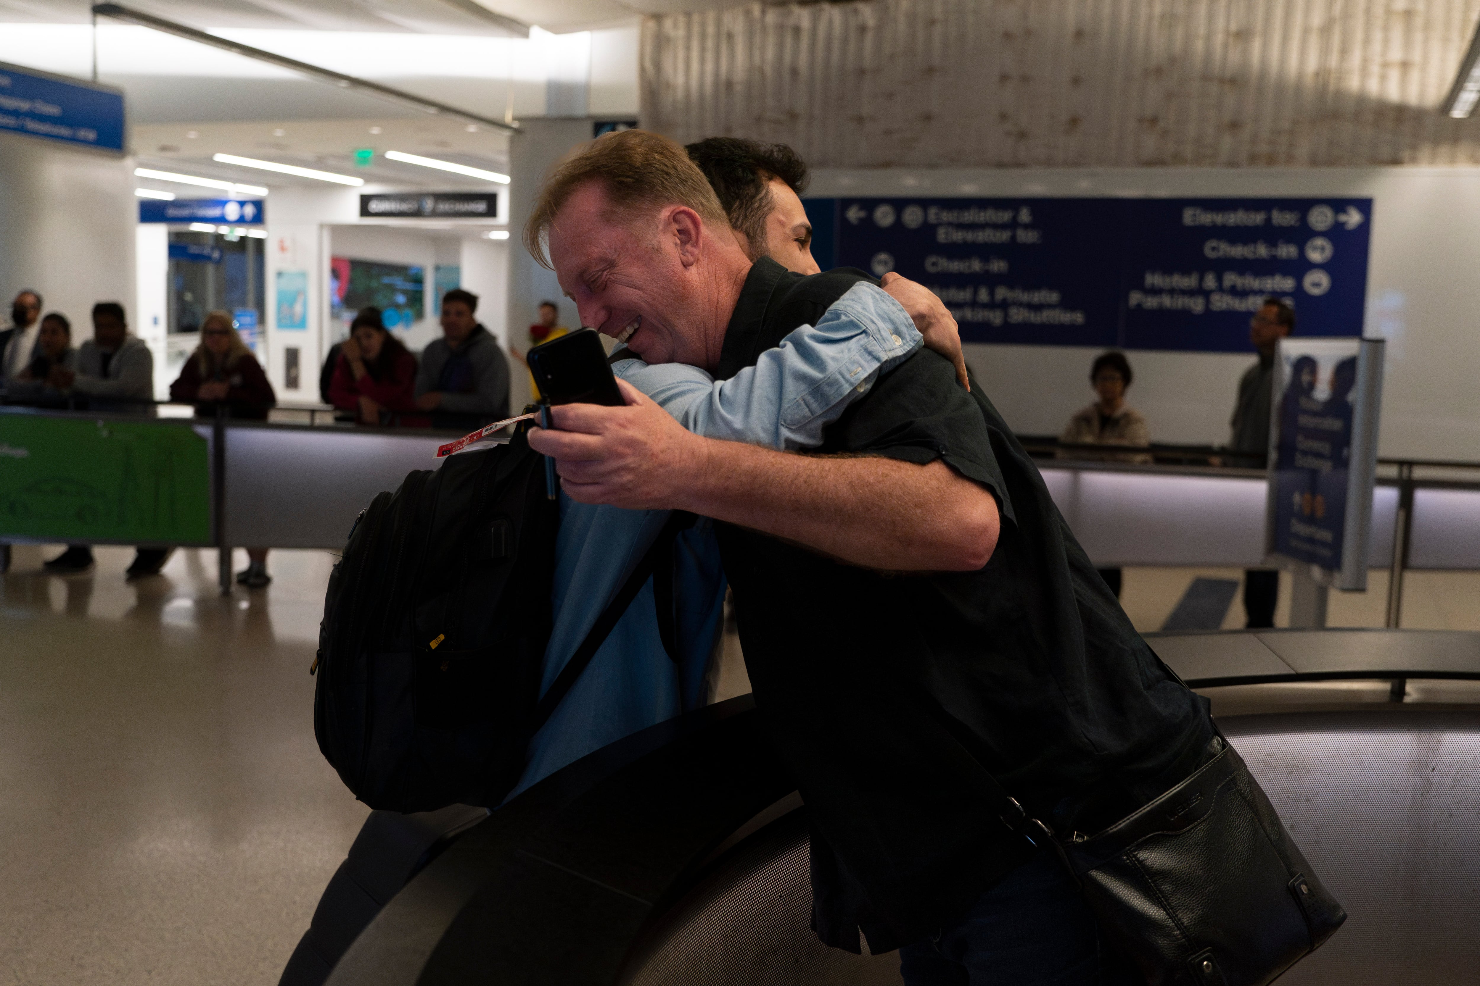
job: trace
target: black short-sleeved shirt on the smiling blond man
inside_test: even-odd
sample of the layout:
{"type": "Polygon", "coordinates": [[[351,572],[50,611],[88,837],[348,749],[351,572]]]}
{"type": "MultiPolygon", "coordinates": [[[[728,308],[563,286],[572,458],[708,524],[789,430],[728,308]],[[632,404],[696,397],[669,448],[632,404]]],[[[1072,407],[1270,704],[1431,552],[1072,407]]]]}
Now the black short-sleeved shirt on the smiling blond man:
{"type": "MultiPolygon", "coordinates": [[[[857,271],[762,259],[718,377],[815,324],[857,271]]],[[[887,574],[721,525],[756,708],[814,823],[814,928],[882,952],[949,927],[1033,851],[986,776],[1057,831],[1095,832],[1190,773],[1206,704],[1159,665],[972,381],[922,350],[879,378],[820,454],[943,460],[998,501],[977,572],[887,574]]]]}

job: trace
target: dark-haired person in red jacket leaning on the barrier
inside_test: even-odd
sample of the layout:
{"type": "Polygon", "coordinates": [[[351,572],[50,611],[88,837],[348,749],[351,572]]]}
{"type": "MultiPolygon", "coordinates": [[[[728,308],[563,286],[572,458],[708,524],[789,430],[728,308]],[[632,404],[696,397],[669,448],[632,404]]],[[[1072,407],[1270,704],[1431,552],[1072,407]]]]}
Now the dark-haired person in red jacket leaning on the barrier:
{"type": "Polygon", "coordinates": [[[357,424],[431,424],[416,407],[416,356],[386,331],[380,309],[363,307],[355,315],[339,347],[329,401],[354,411],[357,424]]]}

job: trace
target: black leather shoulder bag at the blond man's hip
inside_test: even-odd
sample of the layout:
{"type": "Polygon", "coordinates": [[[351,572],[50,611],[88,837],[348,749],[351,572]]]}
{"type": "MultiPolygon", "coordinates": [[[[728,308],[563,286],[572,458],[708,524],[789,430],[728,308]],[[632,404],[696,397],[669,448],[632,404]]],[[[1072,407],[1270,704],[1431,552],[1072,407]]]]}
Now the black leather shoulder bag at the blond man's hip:
{"type": "Polygon", "coordinates": [[[1060,854],[1150,986],[1264,986],[1347,919],[1243,758],[1212,742],[1190,778],[1088,838],[1054,838],[1005,795],[1003,822],[1060,854]]]}

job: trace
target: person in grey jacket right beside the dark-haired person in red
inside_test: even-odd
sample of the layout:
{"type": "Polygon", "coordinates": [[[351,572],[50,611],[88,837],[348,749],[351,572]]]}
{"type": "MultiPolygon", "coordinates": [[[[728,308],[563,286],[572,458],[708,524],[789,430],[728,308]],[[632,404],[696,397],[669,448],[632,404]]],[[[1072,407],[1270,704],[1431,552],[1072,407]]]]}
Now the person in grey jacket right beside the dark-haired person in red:
{"type": "Polygon", "coordinates": [[[443,296],[443,337],[422,350],[416,371],[416,407],[432,412],[432,427],[471,432],[509,417],[509,361],[477,310],[472,291],[443,296]]]}

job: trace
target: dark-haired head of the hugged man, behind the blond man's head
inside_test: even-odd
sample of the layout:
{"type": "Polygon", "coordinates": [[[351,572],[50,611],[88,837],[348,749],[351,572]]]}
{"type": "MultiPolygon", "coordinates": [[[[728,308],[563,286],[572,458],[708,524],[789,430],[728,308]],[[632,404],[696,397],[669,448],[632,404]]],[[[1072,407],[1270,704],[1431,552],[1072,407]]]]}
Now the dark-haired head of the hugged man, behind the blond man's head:
{"type": "Polygon", "coordinates": [[[813,259],[813,223],[801,200],[807,161],[796,151],[743,137],[707,137],[684,149],[713,186],[747,257],[771,257],[798,273],[821,269],[813,259]]]}

